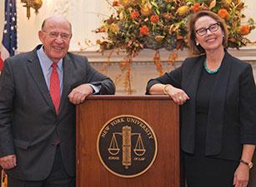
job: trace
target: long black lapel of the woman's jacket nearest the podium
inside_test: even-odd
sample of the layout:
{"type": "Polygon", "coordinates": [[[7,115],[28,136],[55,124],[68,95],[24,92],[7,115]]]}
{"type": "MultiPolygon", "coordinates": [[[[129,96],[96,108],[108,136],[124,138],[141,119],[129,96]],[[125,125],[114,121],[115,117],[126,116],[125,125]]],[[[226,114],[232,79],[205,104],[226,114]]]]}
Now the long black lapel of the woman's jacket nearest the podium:
{"type": "Polygon", "coordinates": [[[190,99],[182,106],[183,130],[181,144],[183,150],[188,153],[194,152],[196,94],[204,60],[205,56],[198,57],[194,62],[191,62],[194,63],[192,66],[187,66],[186,72],[183,71],[185,75],[182,88],[186,91],[190,99]]]}

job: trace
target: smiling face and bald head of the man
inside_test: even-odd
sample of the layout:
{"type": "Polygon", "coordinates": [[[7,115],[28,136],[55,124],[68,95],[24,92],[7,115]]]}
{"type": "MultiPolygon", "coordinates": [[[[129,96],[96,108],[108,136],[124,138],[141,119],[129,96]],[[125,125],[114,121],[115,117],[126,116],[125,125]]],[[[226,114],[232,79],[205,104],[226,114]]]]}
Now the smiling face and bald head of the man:
{"type": "Polygon", "coordinates": [[[58,62],[67,52],[72,37],[71,25],[64,17],[50,17],[38,32],[43,50],[53,61],[58,62]]]}

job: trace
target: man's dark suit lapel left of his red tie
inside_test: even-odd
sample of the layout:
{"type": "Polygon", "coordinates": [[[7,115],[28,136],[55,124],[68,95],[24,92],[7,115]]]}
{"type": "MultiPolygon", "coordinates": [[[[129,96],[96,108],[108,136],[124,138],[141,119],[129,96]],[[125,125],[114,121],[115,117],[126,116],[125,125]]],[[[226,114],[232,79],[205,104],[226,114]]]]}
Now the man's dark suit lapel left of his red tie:
{"type": "Polygon", "coordinates": [[[48,103],[48,106],[55,112],[53,101],[48,91],[48,86],[46,85],[46,82],[44,80],[43,71],[37,55],[37,50],[38,47],[34,49],[32,55],[28,57],[28,72],[33,77],[33,80],[38,86],[38,90],[41,92],[43,99],[48,103]]]}

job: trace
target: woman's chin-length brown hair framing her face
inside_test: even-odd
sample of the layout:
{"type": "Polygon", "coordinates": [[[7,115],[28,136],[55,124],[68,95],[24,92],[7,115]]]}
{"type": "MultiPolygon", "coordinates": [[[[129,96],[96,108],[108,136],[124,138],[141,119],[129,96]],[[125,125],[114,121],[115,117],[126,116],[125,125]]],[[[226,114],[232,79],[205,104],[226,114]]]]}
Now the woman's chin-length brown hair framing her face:
{"type": "Polygon", "coordinates": [[[188,19],[188,47],[190,52],[196,55],[200,55],[202,53],[205,53],[205,50],[200,45],[196,45],[196,32],[194,28],[194,23],[198,20],[198,18],[208,16],[212,17],[216,22],[219,23],[219,26],[221,27],[223,31],[223,47],[228,46],[228,28],[225,23],[225,21],[219,17],[216,13],[211,11],[199,11],[197,13],[193,13],[189,19],[188,19]]]}

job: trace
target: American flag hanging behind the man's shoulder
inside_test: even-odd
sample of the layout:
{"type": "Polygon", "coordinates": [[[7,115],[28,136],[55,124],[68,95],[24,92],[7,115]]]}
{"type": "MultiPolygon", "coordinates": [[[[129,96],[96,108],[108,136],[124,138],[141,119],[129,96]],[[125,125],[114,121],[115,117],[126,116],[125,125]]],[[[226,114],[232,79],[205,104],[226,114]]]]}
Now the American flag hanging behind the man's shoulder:
{"type": "Polygon", "coordinates": [[[0,71],[3,69],[4,60],[12,57],[17,50],[16,0],[5,0],[4,7],[5,19],[2,47],[0,48],[0,71]]]}

